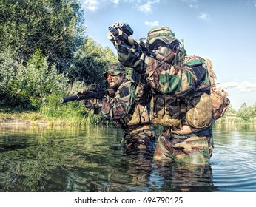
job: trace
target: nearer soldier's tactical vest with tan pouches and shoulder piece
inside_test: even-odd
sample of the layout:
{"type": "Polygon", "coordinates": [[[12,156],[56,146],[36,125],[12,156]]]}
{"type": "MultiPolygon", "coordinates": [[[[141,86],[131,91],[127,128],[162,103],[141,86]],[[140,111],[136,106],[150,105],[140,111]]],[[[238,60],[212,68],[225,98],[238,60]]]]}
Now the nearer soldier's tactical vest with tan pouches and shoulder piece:
{"type": "MultiPolygon", "coordinates": [[[[209,75],[205,59],[190,56],[183,61],[183,68],[193,70],[197,77],[200,77],[202,67],[206,69],[206,75],[209,75]]],[[[196,82],[195,90],[184,95],[156,93],[150,102],[152,123],[175,127],[189,125],[197,129],[211,126],[213,109],[209,85],[209,82],[196,82]]]]}

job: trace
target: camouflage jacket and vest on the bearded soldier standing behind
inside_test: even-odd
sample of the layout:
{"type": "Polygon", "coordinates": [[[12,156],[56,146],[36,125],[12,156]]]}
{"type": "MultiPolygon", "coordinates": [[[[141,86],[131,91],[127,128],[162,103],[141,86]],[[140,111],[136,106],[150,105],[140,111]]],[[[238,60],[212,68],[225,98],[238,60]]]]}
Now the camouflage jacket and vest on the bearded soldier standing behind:
{"type": "Polygon", "coordinates": [[[128,132],[150,123],[149,104],[136,103],[132,84],[124,80],[113,96],[108,95],[107,101],[102,101],[101,107],[101,118],[114,121],[115,126],[121,125],[128,132]]]}

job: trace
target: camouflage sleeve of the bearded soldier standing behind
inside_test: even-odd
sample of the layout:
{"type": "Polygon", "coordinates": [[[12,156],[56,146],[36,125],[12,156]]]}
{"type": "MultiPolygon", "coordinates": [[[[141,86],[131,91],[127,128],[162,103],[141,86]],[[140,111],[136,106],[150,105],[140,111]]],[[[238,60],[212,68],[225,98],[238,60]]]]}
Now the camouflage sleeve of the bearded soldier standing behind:
{"type": "Polygon", "coordinates": [[[123,84],[118,92],[115,93],[115,98],[110,102],[104,101],[101,107],[101,118],[110,120],[119,120],[124,118],[131,111],[135,101],[134,90],[130,82],[123,84]]]}

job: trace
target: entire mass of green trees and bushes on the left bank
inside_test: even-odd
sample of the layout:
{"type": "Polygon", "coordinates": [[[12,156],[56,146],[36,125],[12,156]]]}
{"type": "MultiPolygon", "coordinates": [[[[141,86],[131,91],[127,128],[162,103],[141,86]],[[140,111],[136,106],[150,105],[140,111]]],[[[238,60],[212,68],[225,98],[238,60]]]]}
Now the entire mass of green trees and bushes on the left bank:
{"type": "Polygon", "coordinates": [[[82,17],[78,0],[0,0],[0,107],[61,115],[74,83],[106,85],[101,74],[117,58],[84,37],[82,17]]]}

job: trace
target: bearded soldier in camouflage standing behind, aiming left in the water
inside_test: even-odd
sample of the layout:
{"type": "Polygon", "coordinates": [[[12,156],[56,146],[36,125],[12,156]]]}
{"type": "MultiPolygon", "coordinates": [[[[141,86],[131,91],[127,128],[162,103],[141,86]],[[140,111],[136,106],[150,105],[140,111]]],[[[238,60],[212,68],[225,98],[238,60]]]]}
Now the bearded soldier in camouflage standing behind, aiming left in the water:
{"type": "Polygon", "coordinates": [[[108,95],[103,100],[87,100],[85,106],[101,109],[101,118],[112,120],[115,126],[121,125],[124,131],[121,146],[124,148],[155,149],[156,134],[149,119],[149,104],[140,101],[146,96],[139,97],[120,63],[110,64],[104,77],[110,86],[108,95]]]}

